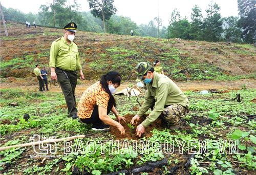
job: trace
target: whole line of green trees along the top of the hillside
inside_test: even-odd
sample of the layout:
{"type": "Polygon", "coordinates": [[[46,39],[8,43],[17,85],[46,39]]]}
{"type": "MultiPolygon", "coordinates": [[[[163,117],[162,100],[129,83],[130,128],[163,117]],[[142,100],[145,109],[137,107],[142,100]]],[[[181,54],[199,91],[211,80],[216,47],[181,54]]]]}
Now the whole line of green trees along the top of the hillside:
{"type": "Polygon", "coordinates": [[[115,15],[117,9],[114,0],[88,0],[91,12],[78,12],[79,4],[74,0],[68,5],[67,0],[55,0],[50,5],[41,5],[37,14],[23,13],[19,10],[3,7],[6,20],[24,22],[26,20],[38,25],[62,28],[70,21],[78,25],[79,30],[90,32],[108,32],[126,35],[133,30],[138,36],[161,38],[182,38],[205,41],[256,42],[256,1],[238,0],[239,17],[221,17],[220,7],[210,3],[206,16],[195,5],[190,15],[181,18],[174,9],[169,18],[169,26],[161,24],[161,18],[155,17],[148,24],[137,25],[130,17],[115,15]]]}

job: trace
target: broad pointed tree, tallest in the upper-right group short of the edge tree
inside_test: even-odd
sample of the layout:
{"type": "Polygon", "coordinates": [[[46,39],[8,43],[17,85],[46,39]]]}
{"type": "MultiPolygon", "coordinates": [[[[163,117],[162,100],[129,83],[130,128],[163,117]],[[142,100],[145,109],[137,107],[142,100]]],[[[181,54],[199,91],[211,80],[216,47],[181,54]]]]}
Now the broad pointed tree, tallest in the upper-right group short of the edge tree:
{"type": "Polygon", "coordinates": [[[222,33],[222,18],[220,7],[216,3],[210,3],[205,10],[207,17],[203,23],[203,39],[206,41],[219,41],[222,33]]]}

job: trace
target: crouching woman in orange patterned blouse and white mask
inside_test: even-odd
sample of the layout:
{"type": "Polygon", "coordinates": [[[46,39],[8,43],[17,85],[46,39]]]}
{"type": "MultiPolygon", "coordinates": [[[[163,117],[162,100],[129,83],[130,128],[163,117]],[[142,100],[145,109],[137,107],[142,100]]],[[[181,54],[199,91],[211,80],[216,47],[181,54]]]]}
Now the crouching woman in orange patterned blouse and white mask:
{"type": "Polygon", "coordinates": [[[109,130],[110,126],[115,126],[124,134],[124,128],[120,120],[125,121],[124,117],[118,115],[116,102],[113,97],[116,88],[121,83],[121,75],[111,71],[103,75],[100,81],[91,85],[82,95],[78,103],[78,117],[84,123],[92,123],[93,130],[109,130]],[[108,114],[112,111],[119,123],[111,119],[108,114]]]}

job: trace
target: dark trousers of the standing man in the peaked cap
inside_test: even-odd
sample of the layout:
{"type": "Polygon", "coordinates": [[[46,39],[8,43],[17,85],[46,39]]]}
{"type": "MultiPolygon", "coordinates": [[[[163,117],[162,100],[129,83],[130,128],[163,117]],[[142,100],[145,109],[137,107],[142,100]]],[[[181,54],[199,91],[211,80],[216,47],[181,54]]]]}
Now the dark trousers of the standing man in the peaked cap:
{"type": "Polygon", "coordinates": [[[68,106],[68,113],[70,116],[77,113],[75,89],[77,84],[77,72],[65,71],[61,69],[55,70],[57,79],[61,87],[62,93],[65,96],[66,104],[68,106]]]}

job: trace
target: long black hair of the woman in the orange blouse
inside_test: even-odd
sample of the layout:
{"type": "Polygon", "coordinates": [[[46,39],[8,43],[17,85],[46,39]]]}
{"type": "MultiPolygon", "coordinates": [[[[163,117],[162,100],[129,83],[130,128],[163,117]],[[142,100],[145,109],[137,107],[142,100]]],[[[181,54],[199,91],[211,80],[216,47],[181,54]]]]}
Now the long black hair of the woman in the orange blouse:
{"type": "Polygon", "coordinates": [[[116,106],[116,101],[110,92],[109,84],[107,81],[112,81],[113,84],[117,83],[118,85],[120,85],[121,80],[122,80],[121,75],[116,71],[110,71],[110,72],[102,75],[101,79],[100,79],[100,84],[101,84],[103,90],[109,94],[110,103],[113,103],[114,106],[116,106]]]}

